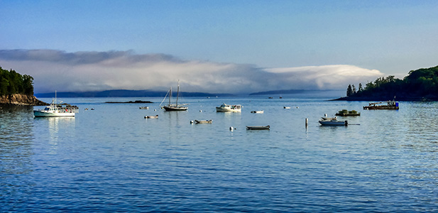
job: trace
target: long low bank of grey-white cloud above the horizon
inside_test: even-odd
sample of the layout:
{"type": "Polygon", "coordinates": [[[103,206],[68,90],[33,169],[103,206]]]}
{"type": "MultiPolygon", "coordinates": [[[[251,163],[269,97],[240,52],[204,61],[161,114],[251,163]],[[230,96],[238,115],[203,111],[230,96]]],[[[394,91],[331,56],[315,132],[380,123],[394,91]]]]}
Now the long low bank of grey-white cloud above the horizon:
{"type": "Polygon", "coordinates": [[[180,80],[185,92],[251,93],[278,89],[345,89],[383,76],[353,65],[263,69],[255,65],[180,60],[131,51],[65,53],[0,50],[0,65],[34,77],[35,92],[104,89],[165,90],[180,80]]]}

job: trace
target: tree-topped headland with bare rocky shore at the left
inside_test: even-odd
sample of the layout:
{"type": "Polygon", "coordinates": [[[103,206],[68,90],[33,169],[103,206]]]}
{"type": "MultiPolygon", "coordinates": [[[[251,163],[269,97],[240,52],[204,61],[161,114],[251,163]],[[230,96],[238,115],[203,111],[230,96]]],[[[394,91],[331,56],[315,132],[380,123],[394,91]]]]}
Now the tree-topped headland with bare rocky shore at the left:
{"type": "Polygon", "coordinates": [[[33,77],[0,67],[0,105],[47,105],[33,96],[33,77]]]}

